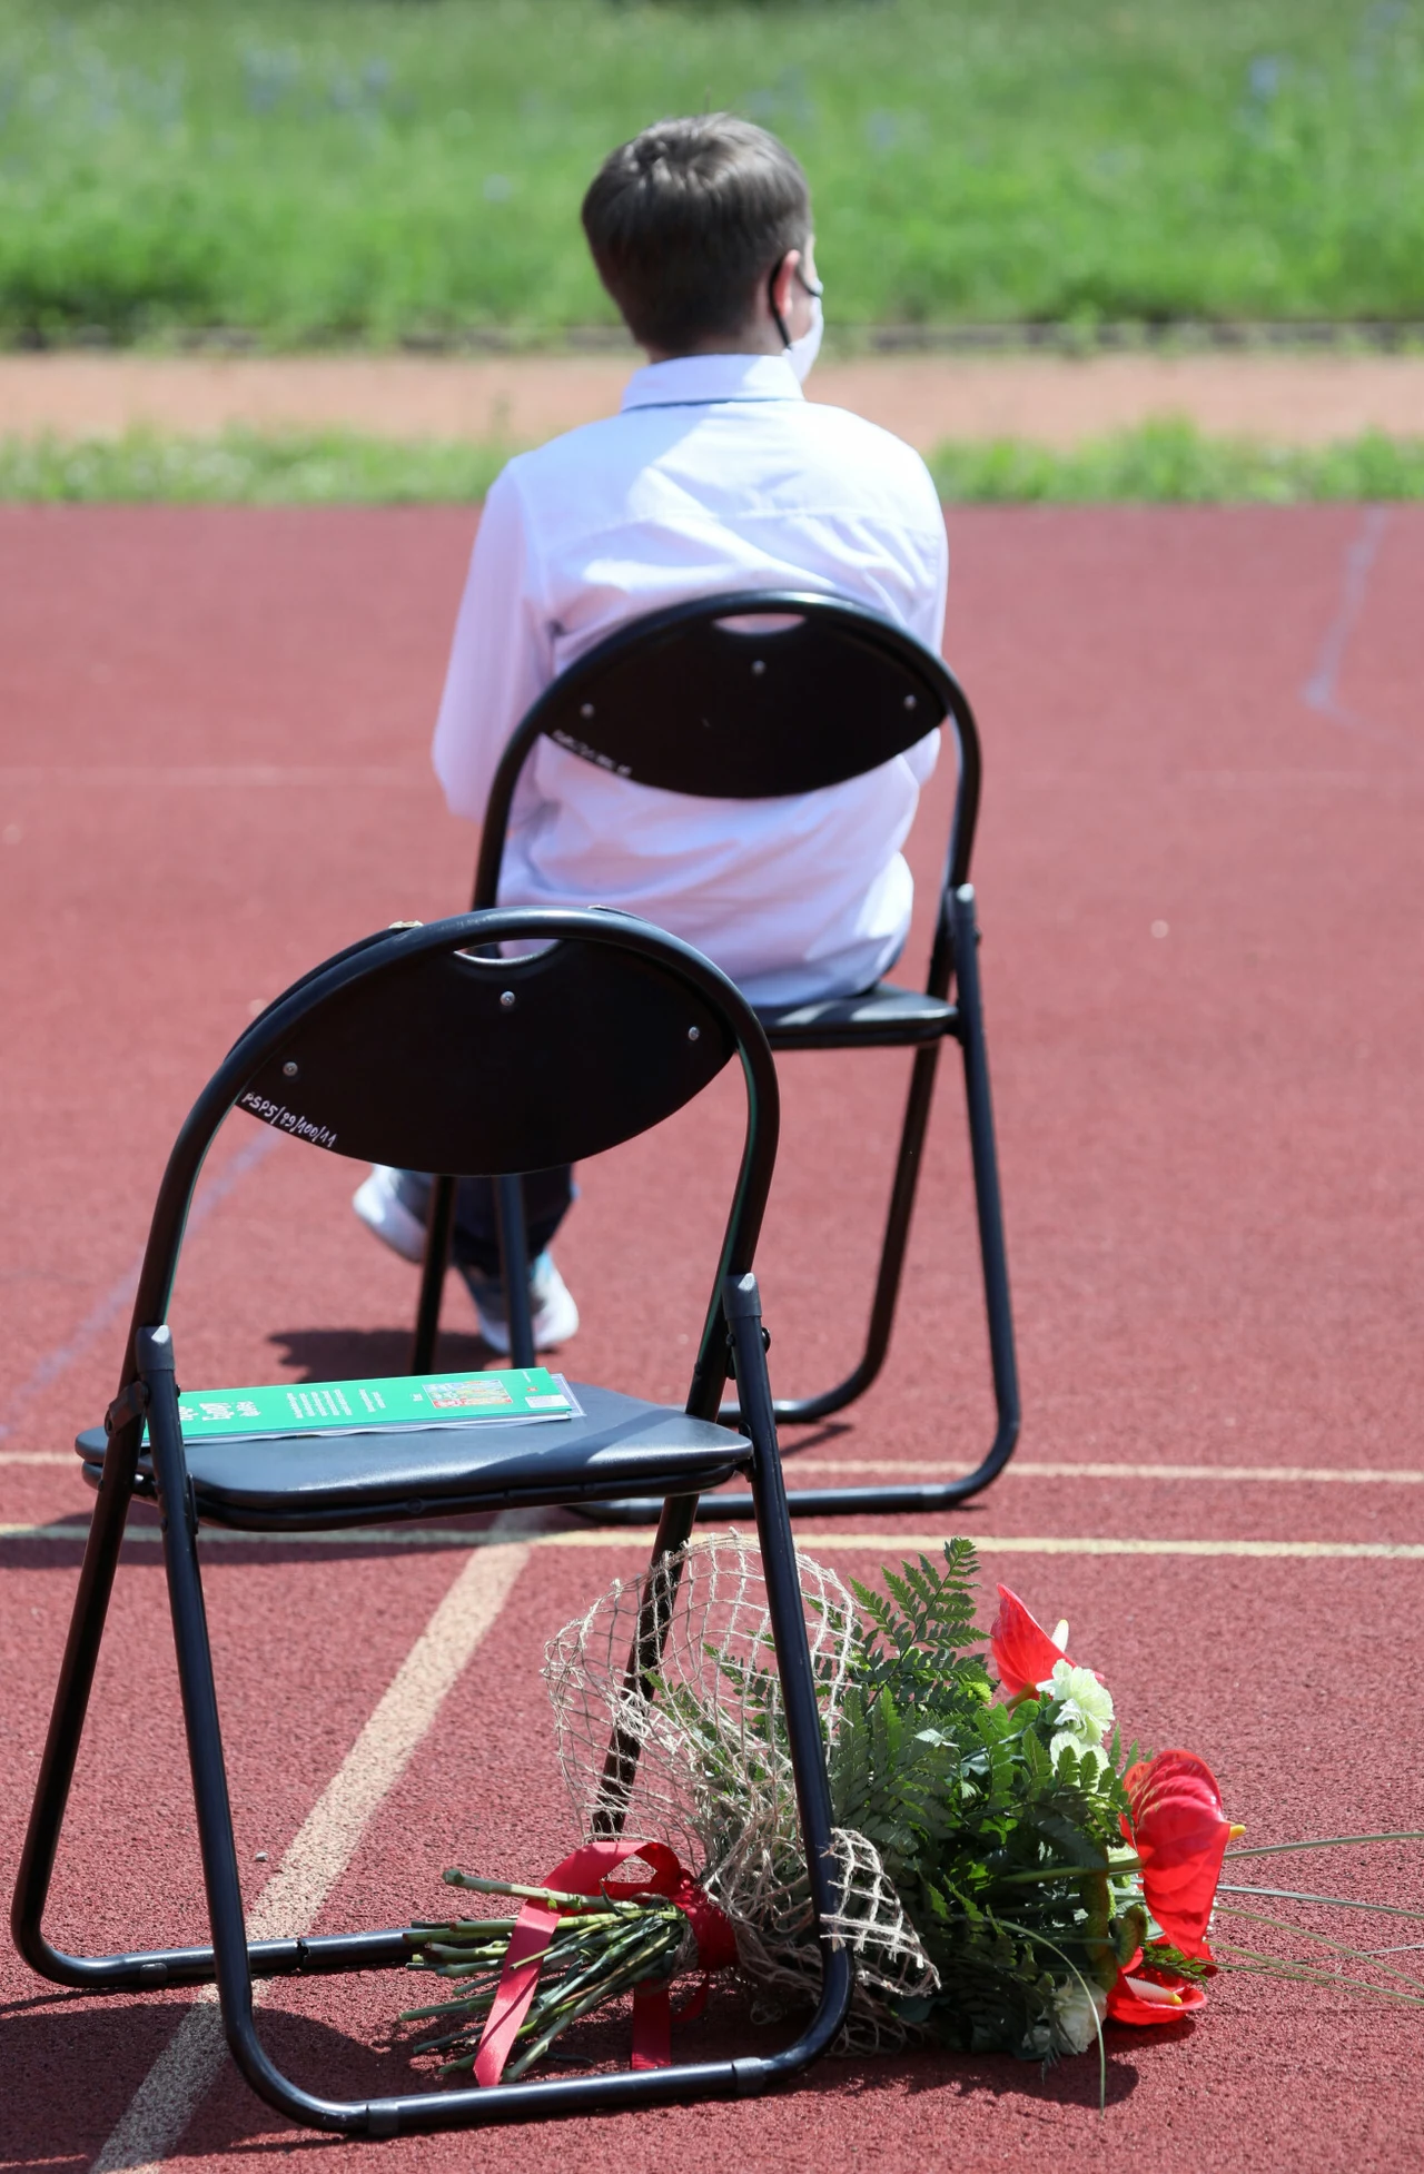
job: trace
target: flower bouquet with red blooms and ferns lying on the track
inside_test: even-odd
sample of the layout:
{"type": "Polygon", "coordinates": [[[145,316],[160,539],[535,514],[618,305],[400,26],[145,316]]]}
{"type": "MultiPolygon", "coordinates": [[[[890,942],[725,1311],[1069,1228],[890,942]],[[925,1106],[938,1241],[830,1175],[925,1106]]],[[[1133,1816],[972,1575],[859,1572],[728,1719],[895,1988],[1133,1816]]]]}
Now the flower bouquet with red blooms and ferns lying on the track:
{"type": "MultiPolygon", "coordinates": [[[[885,1570],[883,1594],[798,1565],[835,1817],[828,1931],[857,1959],[848,2041],[1039,2061],[1096,2044],[1102,2057],[1107,2017],[1161,2026],[1202,2009],[1224,1852],[1241,1833],[1204,1761],[1124,1748],[1111,1694],[1067,1654],[1067,1624],[1050,1637],[1002,1585],[985,1657],[970,1541],[948,1541],[941,1567],[885,1570]]],[[[444,2054],[441,2074],[524,2074],[624,1994],[635,2067],[661,2065],[670,1987],[694,1978],[680,2013],[698,2013],[724,1967],[763,2007],[815,1998],[757,1552],[737,1535],[691,1544],[659,1567],[652,1600],[667,1637],[641,1683],[626,1665],[641,1583],[615,1583],[548,1648],[585,1844],[539,1887],[446,1872],[520,1913],[409,1933],[411,1967],[454,1981],[402,2017],[437,2026],[417,2050],[444,2054]]],[[[1244,1965],[1276,1967],[1246,1950],[1226,1967],[1244,1965]]],[[[1417,1998],[1402,1976],[1376,1989],[1417,1998]]]]}

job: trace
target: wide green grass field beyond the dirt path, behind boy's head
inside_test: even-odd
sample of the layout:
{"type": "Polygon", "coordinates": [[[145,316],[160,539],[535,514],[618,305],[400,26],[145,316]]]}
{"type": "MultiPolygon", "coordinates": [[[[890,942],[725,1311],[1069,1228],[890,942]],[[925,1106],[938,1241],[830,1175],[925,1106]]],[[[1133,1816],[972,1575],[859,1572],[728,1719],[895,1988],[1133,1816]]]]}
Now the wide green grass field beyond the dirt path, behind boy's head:
{"type": "Polygon", "coordinates": [[[1424,317],[1424,0],[0,0],[0,339],[611,322],[583,187],[707,104],[833,326],[1424,317]]]}

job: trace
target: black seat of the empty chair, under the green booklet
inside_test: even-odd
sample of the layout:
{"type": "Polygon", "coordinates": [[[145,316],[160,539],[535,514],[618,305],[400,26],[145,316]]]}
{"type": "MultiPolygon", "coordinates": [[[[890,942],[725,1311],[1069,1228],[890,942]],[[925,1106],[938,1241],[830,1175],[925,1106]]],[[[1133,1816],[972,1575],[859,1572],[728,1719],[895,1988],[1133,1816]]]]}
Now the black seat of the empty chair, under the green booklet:
{"type": "MultiPolygon", "coordinates": [[[[580,1420],[524,1426],[380,1428],[339,1435],[228,1435],[187,1446],[198,1517],[246,1530],[320,1530],[383,1517],[450,1515],[513,1502],[589,1502],[620,1494],[700,1494],[746,1472],[744,1435],[574,1383],[580,1420]]],[[[74,1444],[91,1476],[104,1433],[74,1444]]],[[[139,1491],[152,1494],[148,1450],[139,1491]]]]}

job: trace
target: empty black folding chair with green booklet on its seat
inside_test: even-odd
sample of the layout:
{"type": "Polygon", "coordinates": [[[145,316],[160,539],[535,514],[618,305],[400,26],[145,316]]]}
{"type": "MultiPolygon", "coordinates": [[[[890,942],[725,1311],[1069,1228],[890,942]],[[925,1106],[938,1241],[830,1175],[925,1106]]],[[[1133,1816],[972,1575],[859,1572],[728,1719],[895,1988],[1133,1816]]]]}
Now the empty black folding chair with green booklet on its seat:
{"type": "MultiPolygon", "coordinates": [[[[502,1504],[600,1502],[626,1496],[630,1485],[661,1498],[657,1563],[687,1539],[702,1487],[748,1474],[811,1900],[824,1928],[837,1887],[830,1794],[752,1276],[776,1124],[776,1067],[744,998],[687,944],[622,913],[472,913],[389,930],[296,983],[243,1033],[178,1135],[143,1254],[120,1394],[104,1428],[78,1441],[98,1480],[98,1507],[13,1911],[15,1941],[37,1972],[85,1991],[215,1978],[228,2046],[252,2089],[293,2122],[343,2135],[389,2137],[541,2113],[741,2098],[794,2076],[826,2050],[850,2002],[850,1957],[822,1933],[820,2004],[785,2052],[361,2102],[315,2098],[283,2076],[252,2026],[252,1976],[398,1967],[409,1944],[400,1928],[248,1944],[198,1567],[202,1524],[330,1530],[502,1504]],[[546,948],[517,959],[489,954],[491,946],[530,937],[546,948]],[[746,1144],[685,1411],[578,1385],[585,1417],[548,1426],[324,1439],[293,1433],[278,1441],[185,1446],[165,1315],[193,1183],[233,1107],[363,1161],[461,1174],[537,1170],[648,1130],[700,1094],[733,1057],[746,1083],[746,1144]],[[733,1354],[744,1435],[717,1424],[733,1354]],[[141,1439],[146,1424],[150,1446],[141,1439]],[[135,1494],[157,1500],[163,1513],[213,1944],[65,1954],[46,1939],[43,1907],[135,1494]]],[[[665,1635],[670,1583],[663,1574],[657,1594],[652,1585],[646,1589],[628,1659],[630,1678],[644,1685],[665,1635]]],[[[604,1833],[622,1824],[626,1783],[628,1746],[615,1737],[604,1833]]]]}

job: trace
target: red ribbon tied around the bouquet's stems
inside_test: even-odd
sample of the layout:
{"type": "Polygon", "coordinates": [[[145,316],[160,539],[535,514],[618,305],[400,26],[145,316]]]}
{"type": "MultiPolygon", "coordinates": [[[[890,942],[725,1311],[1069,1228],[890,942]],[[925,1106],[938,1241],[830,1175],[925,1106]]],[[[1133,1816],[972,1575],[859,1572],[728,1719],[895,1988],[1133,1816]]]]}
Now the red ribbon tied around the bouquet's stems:
{"type": "MultiPolygon", "coordinates": [[[[676,1902],[683,1911],[698,1944],[702,1983],[689,2007],[680,2013],[687,2017],[700,2015],[707,2007],[713,1970],[728,1970],[737,1961],[737,1937],[730,1922],[722,1915],[717,1904],[702,1894],[694,1876],[683,1870],[665,1841],[589,1841],[580,1850],[574,1850],[572,1857],[565,1857],[561,1865],[554,1865],[544,1885],[561,1889],[563,1894],[598,1896],[604,1894],[604,1881],[630,1857],[641,1857],[644,1863],[652,1867],[650,1876],[646,1881],[617,1881],[611,1894],[620,1902],[635,1900],[637,1896],[667,1896],[667,1900],[676,1902]]],[[[504,2074],[504,2063],[513,2052],[520,2024],[528,2015],[539,1987],[539,1965],[544,1961],[544,1950],[554,1937],[557,1924],[559,1911],[550,1909],[546,1902],[526,1902],[515,1917],[515,1928],[509,1935],[509,1948],[504,1950],[500,1983],[485,2020],[480,2050],[474,2059],[474,2078],[480,2085],[494,2085],[504,2074]]],[[[667,1998],[667,1981],[663,1978],[657,1985],[635,1985],[633,2067],[670,2065],[672,2002],[667,1998]]]]}

